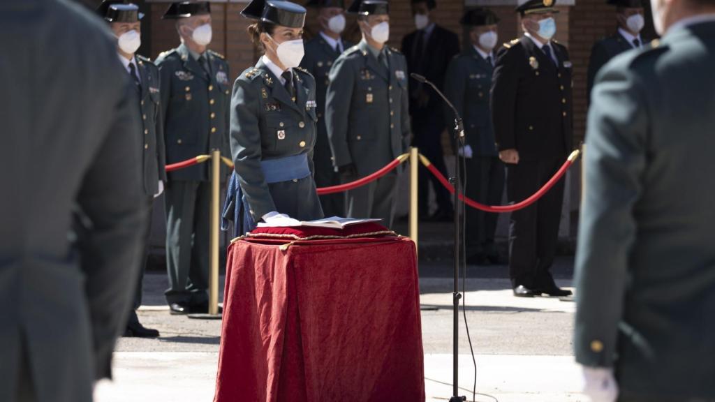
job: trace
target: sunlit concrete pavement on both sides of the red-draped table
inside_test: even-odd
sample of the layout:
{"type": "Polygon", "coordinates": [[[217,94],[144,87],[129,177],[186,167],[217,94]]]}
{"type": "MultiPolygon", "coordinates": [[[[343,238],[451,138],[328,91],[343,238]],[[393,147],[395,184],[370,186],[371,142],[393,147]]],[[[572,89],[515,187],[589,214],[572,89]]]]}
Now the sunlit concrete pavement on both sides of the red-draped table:
{"type": "MultiPolygon", "coordinates": [[[[566,272],[557,275],[563,277],[559,285],[571,285],[571,259],[562,258],[558,265],[566,272]]],[[[445,264],[429,269],[451,270],[445,264]]],[[[492,269],[506,272],[506,267],[492,269]]],[[[475,401],[586,402],[578,393],[581,375],[571,350],[575,305],[556,298],[514,298],[506,278],[483,268],[468,270],[477,276],[465,285],[465,315],[478,368],[475,401]]],[[[428,401],[448,401],[452,393],[452,286],[451,278],[420,278],[421,303],[437,308],[422,313],[428,401]]],[[[147,274],[139,310],[142,323],[159,329],[162,337],[119,341],[115,380],[98,384],[98,402],[212,400],[220,321],[169,315],[165,287],[165,275],[147,274]]],[[[459,350],[461,394],[471,401],[474,368],[461,313],[459,350]]]]}

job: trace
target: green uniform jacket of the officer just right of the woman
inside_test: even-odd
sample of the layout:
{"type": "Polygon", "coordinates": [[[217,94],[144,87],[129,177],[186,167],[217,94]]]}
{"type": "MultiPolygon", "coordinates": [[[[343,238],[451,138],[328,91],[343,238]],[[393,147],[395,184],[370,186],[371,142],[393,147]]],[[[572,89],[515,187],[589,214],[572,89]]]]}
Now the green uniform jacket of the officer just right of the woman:
{"type": "Polygon", "coordinates": [[[385,46],[389,69],[361,41],[330,70],[325,124],[335,166],[354,163],[370,175],[398,157],[410,141],[407,62],[385,46]]]}

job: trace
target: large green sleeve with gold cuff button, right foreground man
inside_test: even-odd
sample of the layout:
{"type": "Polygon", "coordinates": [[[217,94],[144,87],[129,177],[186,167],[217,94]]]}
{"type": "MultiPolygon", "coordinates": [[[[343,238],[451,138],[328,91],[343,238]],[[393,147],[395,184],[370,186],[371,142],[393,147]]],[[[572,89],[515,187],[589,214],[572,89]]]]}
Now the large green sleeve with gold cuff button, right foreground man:
{"type": "Polygon", "coordinates": [[[602,367],[613,365],[617,350],[649,124],[644,84],[624,67],[608,69],[598,76],[588,115],[575,275],[576,361],[602,367]]]}

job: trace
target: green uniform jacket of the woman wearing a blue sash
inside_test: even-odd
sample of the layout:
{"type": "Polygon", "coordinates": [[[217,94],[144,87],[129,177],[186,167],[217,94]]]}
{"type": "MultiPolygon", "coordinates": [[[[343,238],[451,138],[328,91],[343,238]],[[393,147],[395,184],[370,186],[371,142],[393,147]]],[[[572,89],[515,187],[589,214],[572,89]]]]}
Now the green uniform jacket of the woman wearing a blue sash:
{"type": "MultiPolygon", "coordinates": [[[[306,154],[310,171],[317,129],[315,79],[305,69],[295,74],[293,101],[280,79],[260,59],[236,79],[231,99],[231,150],[239,184],[254,222],[277,211],[299,220],[322,217],[312,175],[303,180],[267,183],[264,160],[306,154]]],[[[240,202],[240,200],[237,200],[240,202]]]]}

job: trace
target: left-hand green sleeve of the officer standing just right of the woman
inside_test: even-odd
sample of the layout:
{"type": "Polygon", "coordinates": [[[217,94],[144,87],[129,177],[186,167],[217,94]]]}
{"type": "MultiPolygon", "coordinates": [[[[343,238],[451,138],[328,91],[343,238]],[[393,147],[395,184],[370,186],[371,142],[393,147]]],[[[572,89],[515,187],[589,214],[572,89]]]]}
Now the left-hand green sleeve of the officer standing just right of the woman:
{"type": "Polygon", "coordinates": [[[347,124],[354,86],[355,72],[350,62],[343,57],[338,58],[330,69],[330,85],[325,101],[325,127],[336,167],[352,163],[350,148],[347,146],[347,124]]]}

